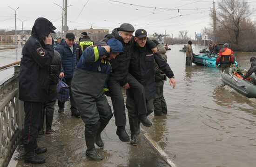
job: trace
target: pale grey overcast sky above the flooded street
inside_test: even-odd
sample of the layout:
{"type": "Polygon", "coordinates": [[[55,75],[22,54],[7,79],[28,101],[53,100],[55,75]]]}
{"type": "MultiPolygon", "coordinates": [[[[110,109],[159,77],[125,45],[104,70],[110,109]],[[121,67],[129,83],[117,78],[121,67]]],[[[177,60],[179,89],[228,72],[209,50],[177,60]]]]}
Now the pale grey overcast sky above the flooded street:
{"type": "MultiPolygon", "coordinates": [[[[256,0],[249,2],[256,8],[256,0]]],[[[19,7],[17,30],[21,30],[20,20],[26,30],[31,30],[35,19],[45,17],[61,31],[62,9],[54,3],[62,6],[63,0],[1,0],[0,29],[15,29],[13,9],[19,7]]],[[[166,31],[178,37],[180,30],[188,30],[188,36],[194,39],[195,32],[212,24],[209,12],[213,0],[67,0],[67,5],[72,5],[67,8],[69,30],[89,29],[92,25],[111,32],[122,23],[130,23],[135,30],[143,28],[148,34],[166,31]]],[[[255,18],[254,14],[252,19],[255,18]]]]}

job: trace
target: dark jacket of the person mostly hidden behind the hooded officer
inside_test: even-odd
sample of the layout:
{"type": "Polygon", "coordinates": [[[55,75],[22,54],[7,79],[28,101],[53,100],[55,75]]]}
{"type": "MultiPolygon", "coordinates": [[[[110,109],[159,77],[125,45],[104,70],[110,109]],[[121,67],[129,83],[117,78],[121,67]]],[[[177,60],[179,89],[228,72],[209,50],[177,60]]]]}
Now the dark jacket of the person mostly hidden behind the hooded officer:
{"type": "Polygon", "coordinates": [[[61,55],[58,51],[54,51],[54,58],[50,65],[50,84],[59,82],[59,74],[61,71],[61,55]]]}

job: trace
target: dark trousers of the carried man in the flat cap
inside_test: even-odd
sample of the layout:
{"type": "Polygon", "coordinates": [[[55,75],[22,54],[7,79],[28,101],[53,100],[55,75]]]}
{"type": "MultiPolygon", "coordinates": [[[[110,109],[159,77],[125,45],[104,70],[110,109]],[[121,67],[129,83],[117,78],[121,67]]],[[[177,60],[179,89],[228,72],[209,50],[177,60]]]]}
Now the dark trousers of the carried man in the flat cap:
{"type": "Polygon", "coordinates": [[[125,83],[129,83],[130,89],[135,98],[135,105],[137,106],[137,114],[147,114],[146,97],[144,87],[139,83],[131,74],[128,73],[126,79],[116,80],[115,78],[109,77],[108,89],[111,93],[111,101],[113,104],[115,125],[126,126],[126,115],[124,98],[121,91],[121,86],[125,83]]]}

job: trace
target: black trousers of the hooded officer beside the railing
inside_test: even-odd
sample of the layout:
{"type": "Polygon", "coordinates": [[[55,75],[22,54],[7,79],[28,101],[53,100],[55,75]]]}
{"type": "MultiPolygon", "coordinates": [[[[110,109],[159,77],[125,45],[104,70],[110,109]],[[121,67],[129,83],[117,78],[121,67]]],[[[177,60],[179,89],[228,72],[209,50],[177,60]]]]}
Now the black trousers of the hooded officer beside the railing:
{"type": "Polygon", "coordinates": [[[37,138],[43,103],[24,102],[24,144],[31,144],[37,138]]]}

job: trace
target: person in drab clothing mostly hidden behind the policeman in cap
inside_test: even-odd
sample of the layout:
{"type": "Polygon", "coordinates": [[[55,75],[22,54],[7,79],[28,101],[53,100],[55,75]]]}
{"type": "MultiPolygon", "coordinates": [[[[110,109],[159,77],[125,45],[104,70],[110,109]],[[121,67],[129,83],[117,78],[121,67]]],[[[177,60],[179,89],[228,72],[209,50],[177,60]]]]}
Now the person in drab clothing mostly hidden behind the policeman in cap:
{"type": "MultiPolygon", "coordinates": [[[[167,62],[167,55],[165,48],[157,42],[157,40],[152,40],[160,56],[167,62]]],[[[154,98],[154,115],[155,116],[162,116],[162,114],[167,114],[167,105],[166,101],[163,96],[163,84],[166,81],[166,75],[159,69],[159,66],[155,62],[154,64],[154,71],[155,71],[155,98],[154,98]]]]}

